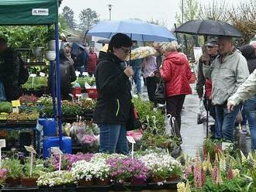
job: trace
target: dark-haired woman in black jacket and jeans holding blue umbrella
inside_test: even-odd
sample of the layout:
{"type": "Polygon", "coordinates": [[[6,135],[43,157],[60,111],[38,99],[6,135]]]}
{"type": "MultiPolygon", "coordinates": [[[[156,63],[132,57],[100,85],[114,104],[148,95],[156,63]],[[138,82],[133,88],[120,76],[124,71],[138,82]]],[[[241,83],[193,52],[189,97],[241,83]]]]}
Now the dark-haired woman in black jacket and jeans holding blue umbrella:
{"type": "Polygon", "coordinates": [[[131,39],[117,33],[109,42],[109,50],[96,67],[95,78],[99,98],[93,120],[100,128],[101,153],[128,153],[126,123],[131,110],[130,81],[133,75],[124,60],[130,53],[131,39]]]}

